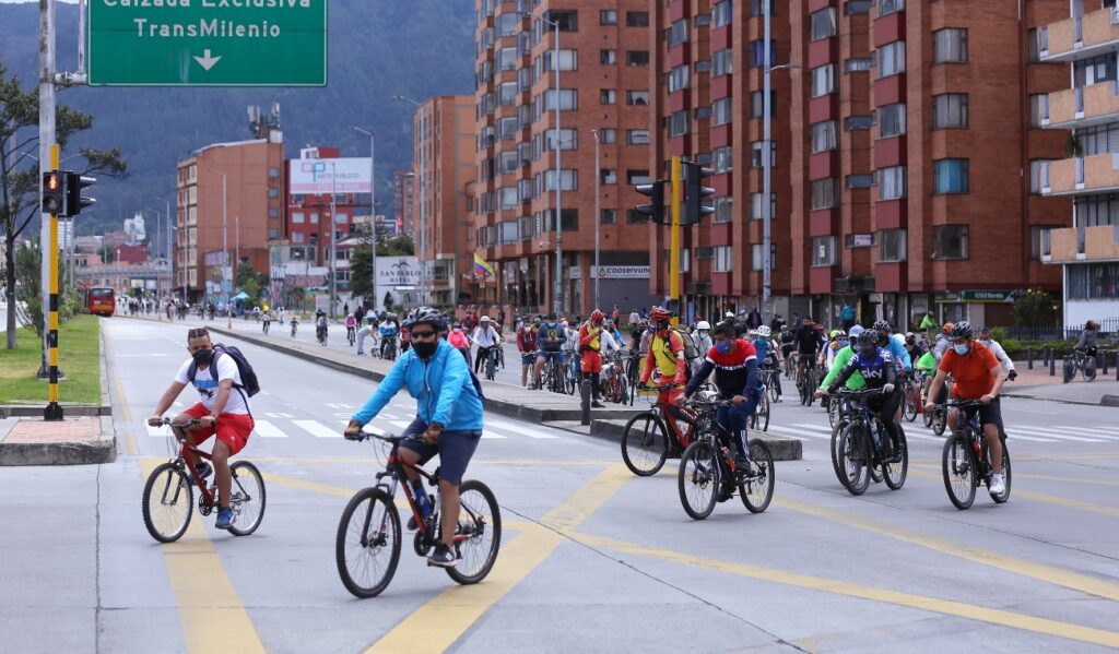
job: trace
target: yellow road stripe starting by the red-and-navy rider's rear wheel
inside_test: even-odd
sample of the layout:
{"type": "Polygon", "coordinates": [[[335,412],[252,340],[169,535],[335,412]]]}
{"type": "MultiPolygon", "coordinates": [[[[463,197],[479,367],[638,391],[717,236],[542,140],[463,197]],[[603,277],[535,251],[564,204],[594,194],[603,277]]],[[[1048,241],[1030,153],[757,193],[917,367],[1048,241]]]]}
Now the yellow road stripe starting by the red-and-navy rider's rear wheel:
{"type": "Polygon", "coordinates": [[[918,547],[934,550],[952,557],[959,557],[976,563],[999,568],[1015,575],[1031,577],[1047,584],[1055,584],[1057,586],[1064,586],[1065,588],[1072,588],[1097,597],[1119,601],[1119,585],[1110,584],[1094,577],[1089,577],[1088,575],[1079,575],[1054,566],[1046,566],[1044,563],[1036,563],[1026,559],[1000,555],[991,550],[972,547],[966,542],[918,533],[886,522],[878,522],[876,520],[861,518],[845,511],[826,509],[824,506],[797,500],[779,497],[777,503],[780,506],[792,509],[793,511],[798,511],[800,513],[806,513],[816,518],[822,518],[824,520],[830,520],[833,522],[869,531],[878,535],[915,544],[918,547]]]}

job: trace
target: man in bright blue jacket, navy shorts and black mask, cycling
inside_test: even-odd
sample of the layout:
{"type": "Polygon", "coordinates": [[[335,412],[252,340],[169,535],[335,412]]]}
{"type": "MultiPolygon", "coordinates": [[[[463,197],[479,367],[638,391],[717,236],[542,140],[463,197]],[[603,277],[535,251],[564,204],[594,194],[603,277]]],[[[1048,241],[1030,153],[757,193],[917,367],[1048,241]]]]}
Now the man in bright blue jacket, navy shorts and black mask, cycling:
{"type": "MultiPolygon", "coordinates": [[[[416,399],[416,418],[404,430],[401,457],[423,465],[440,458],[439,492],[442,497],[440,523],[443,542],[427,558],[432,566],[454,566],[454,530],[459,524],[459,484],[482,435],[482,400],[462,354],[442,339],[446,322],[433,309],[416,310],[404,325],[412,333],[412,348],[393,364],[376,392],[350,418],[346,438],[357,439],[372,420],[402,388],[416,399]]],[[[408,474],[415,481],[415,473],[408,474]]],[[[415,519],[408,529],[415,529],[415,519]]]]}

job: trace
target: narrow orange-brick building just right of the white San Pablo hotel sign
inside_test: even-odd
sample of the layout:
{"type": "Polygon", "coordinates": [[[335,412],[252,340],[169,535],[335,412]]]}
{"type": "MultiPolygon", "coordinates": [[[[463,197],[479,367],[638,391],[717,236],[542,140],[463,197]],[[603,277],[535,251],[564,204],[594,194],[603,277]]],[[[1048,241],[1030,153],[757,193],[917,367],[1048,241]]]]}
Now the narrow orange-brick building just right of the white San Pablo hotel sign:
{"type": "Polygon", "coordinates": [[[414,235],[429,304],[470,302],[466,291],[473,268],[467,248],[467,186],[474,181],[474,101],[470,95],[430,97],[414,119],[414,235]],[[463,295],[463,294],[467,295],[463,295]]]}

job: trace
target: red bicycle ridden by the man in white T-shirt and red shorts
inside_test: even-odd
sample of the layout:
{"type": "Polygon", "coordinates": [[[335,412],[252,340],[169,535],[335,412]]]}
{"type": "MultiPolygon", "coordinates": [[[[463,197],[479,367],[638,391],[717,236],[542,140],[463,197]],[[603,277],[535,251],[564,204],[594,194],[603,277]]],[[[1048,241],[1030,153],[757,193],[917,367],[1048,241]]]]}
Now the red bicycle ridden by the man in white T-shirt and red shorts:
{"type": "MultiPolygon", "coordinates": [[[[168,446],[172,452],[178,446],[178,452],[173,458],[158,465],[148,475],[141,504],[143,524],[148,533],[159,542],[175,542],[190,527],[195,494],[191,482],[188,481],[188,471],[194,477],[194,485],[198,486],[198,512],[206,516],[217,508],[216,486],[211,484],[207,487],[201,474],[201,461],[210,459],[211,456],[198,449],[187,434],[187,428],[198,423],[198,418],[191,418],[181,425],[172,423],[170,418],[163,418],[160,423],[170,427],[176,443],[168,439],[168,446]]],[[[229,473],[233,475],[233,492],[229,497],[233,522],[229,524],[229,533],[248,535],[256,531],[264,519],[267,499],[264,478],[261,471],[247,461],[233,463],[229,473]]]]}

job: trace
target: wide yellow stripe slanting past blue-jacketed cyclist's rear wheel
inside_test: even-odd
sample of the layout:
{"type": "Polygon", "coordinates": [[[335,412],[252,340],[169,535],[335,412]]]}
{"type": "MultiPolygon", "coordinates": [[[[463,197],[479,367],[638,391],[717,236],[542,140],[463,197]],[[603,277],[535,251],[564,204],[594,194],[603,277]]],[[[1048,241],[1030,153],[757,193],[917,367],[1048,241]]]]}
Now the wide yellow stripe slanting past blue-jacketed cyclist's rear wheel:
{"type": "MultiPolygon", "coordinates": [[[[631,478],[633,476],[626,467],[615,463],[549,511],[540,522],[558,530],[574,529],[631,478]]],[[[493,571],[485,582],[444,590],[396,625],[367,652],[414,651],[417,643],[423,643],[422,648],[427,652],[445,651],[564,540],[561,534],[537,525],[521,531],[509,544],[501,547],[493,571]]]]}

